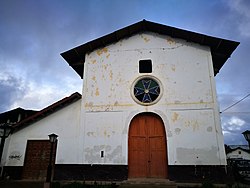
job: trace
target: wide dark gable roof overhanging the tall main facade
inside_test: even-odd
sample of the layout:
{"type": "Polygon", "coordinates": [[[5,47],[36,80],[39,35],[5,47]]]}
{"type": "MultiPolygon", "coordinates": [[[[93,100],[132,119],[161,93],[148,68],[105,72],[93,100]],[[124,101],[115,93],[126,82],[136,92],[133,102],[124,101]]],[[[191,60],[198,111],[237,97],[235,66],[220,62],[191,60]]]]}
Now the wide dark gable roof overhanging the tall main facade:
{"type": "Polygon", "coordinates": [[[68,64],[83,78],[83,69],[85,54],[95,49],[105,47],[111,43],[117,42],[123,38],[130,37],[139,32],[150,31],[173,38],[180,38],[200,45],[209,46],[211,49],[214,75],[216,75],[233,51],[240,44],[239,42],[216,38],[204,34],[199,34],[171,26],[166,26],[146,20],[142,20],[130,26],[124,27],[113,33],[97,38],[83,45],[77,46],[71,50],[61,53],[61,56],[68,64]]]}

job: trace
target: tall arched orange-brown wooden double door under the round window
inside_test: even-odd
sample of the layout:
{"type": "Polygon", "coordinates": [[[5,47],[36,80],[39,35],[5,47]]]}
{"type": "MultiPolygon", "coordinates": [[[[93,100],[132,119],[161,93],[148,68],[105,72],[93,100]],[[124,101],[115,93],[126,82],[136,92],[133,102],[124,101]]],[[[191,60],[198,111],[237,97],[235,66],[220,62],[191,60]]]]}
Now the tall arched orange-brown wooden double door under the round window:
{"type": "Polygon", "coordinates": [[[128,177],[167,178],[167,144],[161,118],[137,115],[129,128],[128,177]]]}

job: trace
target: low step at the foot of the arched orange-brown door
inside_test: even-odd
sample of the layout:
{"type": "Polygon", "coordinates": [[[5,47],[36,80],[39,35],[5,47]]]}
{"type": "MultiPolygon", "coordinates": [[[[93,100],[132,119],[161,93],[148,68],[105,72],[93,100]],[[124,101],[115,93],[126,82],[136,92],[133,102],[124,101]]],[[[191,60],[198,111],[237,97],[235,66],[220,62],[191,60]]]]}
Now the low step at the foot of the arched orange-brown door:
{"type": "Polygon", "coordinates": [[[175,182],[169,181],[168,179],[129,179],[120,184],[119,188],[177,188],[175,182]]]}

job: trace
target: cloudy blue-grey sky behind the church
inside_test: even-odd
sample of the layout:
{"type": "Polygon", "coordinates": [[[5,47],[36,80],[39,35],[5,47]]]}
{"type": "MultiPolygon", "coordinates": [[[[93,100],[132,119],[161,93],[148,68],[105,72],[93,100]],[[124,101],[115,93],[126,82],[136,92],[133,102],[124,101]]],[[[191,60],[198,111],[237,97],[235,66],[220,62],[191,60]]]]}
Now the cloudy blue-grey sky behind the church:
{"type": "MultiPolygon", "coordinates": [[[[60,53],[142,19],[241,42],[216,76],[221,111],[250,93],[249,0],[0,0],[0,113],[81,93],[60,53]]],[[[221,119],[225,143],[246,144],[250,96],[221,119]]]]}

